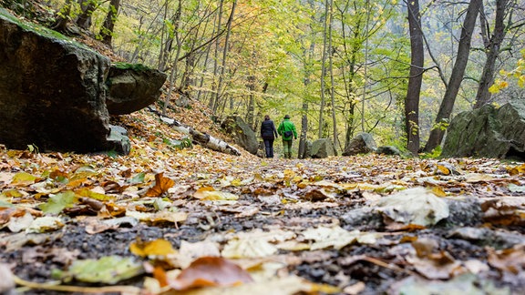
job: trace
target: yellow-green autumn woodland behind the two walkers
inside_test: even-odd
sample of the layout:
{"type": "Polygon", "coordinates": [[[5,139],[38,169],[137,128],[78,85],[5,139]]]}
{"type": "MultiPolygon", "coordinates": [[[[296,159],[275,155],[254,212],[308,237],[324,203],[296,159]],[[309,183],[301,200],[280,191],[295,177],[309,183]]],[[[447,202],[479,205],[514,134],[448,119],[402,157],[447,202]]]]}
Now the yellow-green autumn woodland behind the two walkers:
{"type": "MultiPolygon", "coordinates": [[[[31,14],[26,1],[4,2],[31,14]]],[[[330,137],[344,150],[361,131],[380,145],[431,152],[454,114],[525,97],[518,0],[50,0],[41,7],[55,29],[76,36],[79,27],[130,63],[168,73],[164,97],[178,94],[181,106],[196,99],[209,116],[236,113],[254,130],[266,114],[277,122],[290,114],[301,129],[299,157],[307,139],[330,137]]]]}

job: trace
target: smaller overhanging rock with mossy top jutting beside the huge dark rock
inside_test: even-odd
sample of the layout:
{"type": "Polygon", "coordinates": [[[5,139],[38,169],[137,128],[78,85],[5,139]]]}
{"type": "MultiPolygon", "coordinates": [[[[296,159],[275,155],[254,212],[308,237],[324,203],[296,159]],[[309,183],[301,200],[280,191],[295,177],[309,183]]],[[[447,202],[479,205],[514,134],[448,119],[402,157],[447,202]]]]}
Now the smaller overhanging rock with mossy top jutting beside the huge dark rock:
{"type": "Polygon", "coordinates": [[[124,115],[148,107],[160,97],[166,74],[142,65],[117,63],[109,68],[106,101],[111,115],[124,115]]]}

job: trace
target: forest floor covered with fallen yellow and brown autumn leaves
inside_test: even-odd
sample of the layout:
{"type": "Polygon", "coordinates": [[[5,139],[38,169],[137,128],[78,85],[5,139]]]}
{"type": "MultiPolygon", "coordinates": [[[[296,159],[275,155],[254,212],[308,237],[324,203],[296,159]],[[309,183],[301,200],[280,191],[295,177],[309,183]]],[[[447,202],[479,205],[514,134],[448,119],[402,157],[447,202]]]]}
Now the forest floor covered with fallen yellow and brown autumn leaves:
{"type": "MultiPolygon", "coordinates": [[[[205,109],[170,117],[229,140],[205,109]]],[[[0,293],[525,290],[522,163],[236,157],[112,120],[129,156],[0,151],[0,293]]]]}

